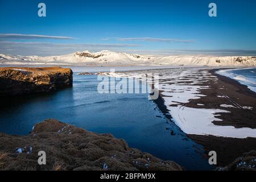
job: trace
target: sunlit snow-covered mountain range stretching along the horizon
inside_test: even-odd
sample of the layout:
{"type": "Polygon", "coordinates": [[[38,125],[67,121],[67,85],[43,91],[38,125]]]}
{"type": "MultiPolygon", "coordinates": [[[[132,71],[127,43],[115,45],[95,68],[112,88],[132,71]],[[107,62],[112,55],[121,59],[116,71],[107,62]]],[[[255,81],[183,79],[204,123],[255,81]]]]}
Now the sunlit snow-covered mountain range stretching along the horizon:
{"type": "Polygon", "coordinates": [[[49,64],[49,65],[208,65],[208,66],[256,66],[253,56],[206,55],[138,55],[113,51],[75,52],[61,56],[12,56],[0,54],[0,64],[49,64]]]}

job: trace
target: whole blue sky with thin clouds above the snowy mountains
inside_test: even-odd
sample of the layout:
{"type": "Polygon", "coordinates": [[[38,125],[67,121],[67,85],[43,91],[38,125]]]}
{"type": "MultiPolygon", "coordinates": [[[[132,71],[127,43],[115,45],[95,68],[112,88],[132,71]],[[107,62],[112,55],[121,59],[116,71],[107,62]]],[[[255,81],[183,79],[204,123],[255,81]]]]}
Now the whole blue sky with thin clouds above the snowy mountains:
{"type": "Polygon", "coordinates": [[[0,53],[256,55],[255,8],[255,0],[0,0],[0,53]]]}

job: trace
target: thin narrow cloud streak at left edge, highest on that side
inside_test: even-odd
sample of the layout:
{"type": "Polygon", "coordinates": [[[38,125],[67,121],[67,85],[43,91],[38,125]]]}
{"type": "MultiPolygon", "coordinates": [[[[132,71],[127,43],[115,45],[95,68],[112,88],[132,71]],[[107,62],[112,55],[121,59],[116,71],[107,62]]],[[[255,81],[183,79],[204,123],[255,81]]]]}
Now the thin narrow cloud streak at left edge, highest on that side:
{"type": "Polygon", "coordinates": [[[70,36],[51,36],[34,34],[0,34],[0,39],[77,39],[70,36]]]}

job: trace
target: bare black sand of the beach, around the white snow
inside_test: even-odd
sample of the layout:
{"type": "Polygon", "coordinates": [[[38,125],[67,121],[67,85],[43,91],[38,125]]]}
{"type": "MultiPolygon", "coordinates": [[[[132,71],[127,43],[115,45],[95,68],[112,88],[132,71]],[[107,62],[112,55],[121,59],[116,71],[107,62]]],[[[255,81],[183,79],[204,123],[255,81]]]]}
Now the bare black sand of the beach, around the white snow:
{"type": "MultiPolygon", "coordinates": [[[[200,98],[200,103],[205,104],[204,107],[218,107],[220,103],[223,103],[223,100],[226,98],[218,97],[217,99],[212,99],[210,96],[213,94],[224,93],[226,96],[231,98],[239,105],[248,105],[253,107],[252,110],[245,110],[239,108],[230,108],[226,107],[225,110],[232,111],[231,113],[222,113],[218,118],[221,118],[223,121],[214,121],[215,125],[221,126],[234,126],[234,127],[250,127],[255,129],[256,127],[256,94],[247,88],[246,85],[240,84],[238,81],[233,80],[232,78],[228,78],[225,76],[221,76],[216,74],[217,70],[212,69],[210,73],[212,75],[218,77],[218,81],[216,84],[212,84],[211,90],[203,90],[203,94],[207,94],[208,97],[200,98]],[[218,88],[226,88],[226,89],[218,89],[218,88]],[[208,92],[208,93],[207,93],[208,92]]],[[[188,106],[191,107],[199,107],[195,105],[195,102],[189,102],[188,106]]],[[[229,99],[227,100],[230,103],[229,99]]],[[[203,145],[205,150],[208,151],[216,151],[218,154],[218,165],[225,166],[229,164],[237,158],[241,156],[245,152],[249,152],[251,150],[256,150],[256,138],[228,138],[228,137],[215,137],[213,135],[188,135],[189,138],[195,140],[195,142],[203,145]]]]}

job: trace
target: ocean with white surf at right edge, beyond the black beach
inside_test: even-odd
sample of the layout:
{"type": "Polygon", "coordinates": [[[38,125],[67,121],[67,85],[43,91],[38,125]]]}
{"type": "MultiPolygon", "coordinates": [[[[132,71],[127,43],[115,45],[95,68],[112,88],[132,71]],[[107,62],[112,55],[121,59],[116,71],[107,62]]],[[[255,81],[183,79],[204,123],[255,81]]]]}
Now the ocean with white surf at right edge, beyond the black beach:
{"type": "Polygon", "coordinates": [[[256,92],[256,68],[223,69],[218,74],[237,80],[256,92]]]}

